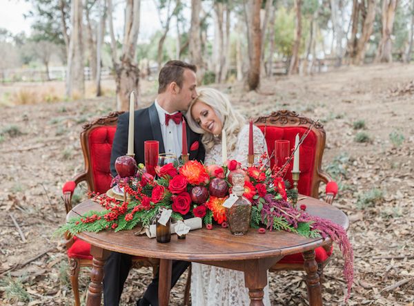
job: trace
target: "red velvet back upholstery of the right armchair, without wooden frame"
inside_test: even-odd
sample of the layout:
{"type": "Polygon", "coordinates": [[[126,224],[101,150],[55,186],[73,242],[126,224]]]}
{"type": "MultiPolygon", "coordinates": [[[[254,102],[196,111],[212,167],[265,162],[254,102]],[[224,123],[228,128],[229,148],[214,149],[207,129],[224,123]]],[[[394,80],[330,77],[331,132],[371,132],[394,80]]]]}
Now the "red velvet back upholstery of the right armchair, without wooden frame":
{"type": "MultiPolygon", "coordinates": [[[[290,149],[293,149],[295,146],[295,136],[299,133],[299,136],[305,133],[306,128],[302,126],[258,126],[264,136],[266,137],[266,143],[268,146],[268,154],[273,155],[275,150],[275,140],[289,140],[290,149]]],[[[317,137],[312,131],[308,134],[308,137],[304,140],[304,143],[299,148],[300,159],[299,159],[299,169],[300,169],[300,179],[297,184],[297,189],[299,193],[303,195],[311,195],[312,192],[312,176],[313,176],[313,167],[315,164],[315,151],[316,151],[317,137]]],[[[272,160],[270,160],[270,166],[273,167],[275,164],[275,158],[273,155],[272,160]]],[[[290,184],[292,183],[292,167],[293,162],[290,162],[288,171],[285,175],[285,180],[288,180],[290,184]]]]}

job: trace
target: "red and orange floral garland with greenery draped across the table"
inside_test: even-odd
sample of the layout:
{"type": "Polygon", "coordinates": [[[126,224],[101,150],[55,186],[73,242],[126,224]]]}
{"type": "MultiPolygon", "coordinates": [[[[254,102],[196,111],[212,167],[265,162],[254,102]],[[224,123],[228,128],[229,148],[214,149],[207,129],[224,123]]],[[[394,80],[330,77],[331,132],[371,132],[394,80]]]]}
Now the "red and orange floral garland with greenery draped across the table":
{"type": "MultiPolygon", "coordinates": [[[[263,160],[263,158],[261,159],[263,160]]],[[[182,220],[192,215],[202,218],[208,229],[213,220],[227,227],[226,208],[222,204],[231,193],[231,182],[235,173],[245,176],[244,197],[252,202],[250,227],[284,230],[307,238],[330,236],[339,245],[345,259],[344,277],[348,285],[348,298],[353,283],[353,250],[342,227],[305,213],[306,207],[295,209],[288,198],[297,197],[293,190],[286,189],[280,176],[273,175],[263,164],[241,169],[241,164],[229,160],[225,166],[204,166],[197,161],[185,164],[166,164],[156,168],[157,178],[149,173],[137,171],[129,178],[115,178],[119,187],[124,187],[131,198],[122,202],[106,194],[90,193],[105,209],[88,211],[83,216],[71,218],[57,233],[69,231],[76,235],[81,231],[115,231],[133,229],[137,224],[146,227],[152,223],[160,207],[172,209],[171,218],[182,220]]]]}

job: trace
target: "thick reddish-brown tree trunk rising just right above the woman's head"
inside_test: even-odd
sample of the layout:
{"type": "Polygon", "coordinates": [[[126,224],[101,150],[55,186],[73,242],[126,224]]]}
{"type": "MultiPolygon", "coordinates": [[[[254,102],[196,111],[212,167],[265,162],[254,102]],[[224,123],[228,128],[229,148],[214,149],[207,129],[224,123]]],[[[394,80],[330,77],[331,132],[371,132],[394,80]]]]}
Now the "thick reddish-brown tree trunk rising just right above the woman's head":
{"type": "MultiPolygon", "coordinates": [[[[250,2],[250,1],[249,1],[250,2]]],[[[249,67],[248,67],[248,89],[256,90],[260,83],[260,56],[262,55],[262,30],[260,29],[260,8],[262,0],[256,0],[250,4],[250,10],[246,12],[248,18],[248,41],[249,41],[249,67]]]]}

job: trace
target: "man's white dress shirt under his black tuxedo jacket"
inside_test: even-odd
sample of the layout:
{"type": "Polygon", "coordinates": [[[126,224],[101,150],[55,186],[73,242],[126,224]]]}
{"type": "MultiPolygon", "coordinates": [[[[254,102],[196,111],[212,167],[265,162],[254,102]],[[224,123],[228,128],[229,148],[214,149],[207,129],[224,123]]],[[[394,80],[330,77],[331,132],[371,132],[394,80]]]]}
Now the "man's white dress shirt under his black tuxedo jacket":
{"type": "Polygon", "coordinates": [[[157,113],[159,117],[159,126],[161,126],[162,141],[164,142],[164,149],[166,153],[171,153],[181,156],[182,148],[182,122],[175,124],[172,120],[166,125],[166,114],[174,115],[175,113],[168,113],[161,106],[159,106],[157,100],[155,100],[155,108],[157,108],[157,113]]]}

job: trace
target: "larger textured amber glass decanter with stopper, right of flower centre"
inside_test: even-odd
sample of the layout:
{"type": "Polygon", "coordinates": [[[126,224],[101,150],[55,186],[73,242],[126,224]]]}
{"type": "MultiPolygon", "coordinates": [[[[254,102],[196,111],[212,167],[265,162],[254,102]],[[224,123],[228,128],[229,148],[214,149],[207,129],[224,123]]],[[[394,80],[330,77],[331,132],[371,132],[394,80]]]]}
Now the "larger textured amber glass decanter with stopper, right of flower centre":
{"type": "Polygon", "coordinates": [[[233,193],[237,200],[227,209],[228,227],[233,235],[244,235],[250,227],[252,204],[244,196],[244,175],[233,175],[233,193]]]}

